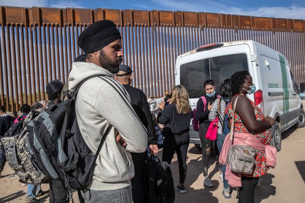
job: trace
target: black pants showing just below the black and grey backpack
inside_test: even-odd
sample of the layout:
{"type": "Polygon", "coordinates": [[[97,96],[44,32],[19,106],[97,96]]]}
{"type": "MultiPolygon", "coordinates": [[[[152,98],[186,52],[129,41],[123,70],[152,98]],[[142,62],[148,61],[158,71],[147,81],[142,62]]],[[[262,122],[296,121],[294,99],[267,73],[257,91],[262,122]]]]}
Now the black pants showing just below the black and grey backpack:
{"type": "Polygon", "coordinates": [[[67,192],[61,180],[49,180],[50,184],[50,203],[68,203],[67,192]]]}

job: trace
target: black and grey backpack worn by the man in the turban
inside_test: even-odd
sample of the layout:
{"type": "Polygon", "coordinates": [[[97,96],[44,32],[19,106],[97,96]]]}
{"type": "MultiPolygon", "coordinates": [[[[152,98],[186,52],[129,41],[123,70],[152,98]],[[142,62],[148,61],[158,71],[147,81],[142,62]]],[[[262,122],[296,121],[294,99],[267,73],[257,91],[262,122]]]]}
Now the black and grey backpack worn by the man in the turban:
{"type": "Polygon", "coordinates": [[[69,94],[69,99],[52,104],[39,117],[28,124],[29,145],[33,159],[53,179],[62,179],[69,189],[82,190],[90,183],[95,161],[110,126],[102,136],[96,154],[92,154],[78,128],[75,114],[75,99],[81,85],[93,78],[82,81],[69,94]],[[71,96],[71,97],[70,97],[71,96]]]}

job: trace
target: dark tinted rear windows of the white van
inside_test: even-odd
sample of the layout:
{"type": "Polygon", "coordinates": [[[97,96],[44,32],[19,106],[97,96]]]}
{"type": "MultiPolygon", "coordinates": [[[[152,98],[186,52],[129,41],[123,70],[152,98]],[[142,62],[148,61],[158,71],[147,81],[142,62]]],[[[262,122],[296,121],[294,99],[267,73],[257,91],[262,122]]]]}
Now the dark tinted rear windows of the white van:
{"type": "Polygon", "coordinates": [[[232,54],[199,61],[180,66],[180,84],[188,90],[190,98],[205,95],[203,84],[212,79],[219,92],[221,83],[237,72],[248,70],[246,54],[232,54]]]}

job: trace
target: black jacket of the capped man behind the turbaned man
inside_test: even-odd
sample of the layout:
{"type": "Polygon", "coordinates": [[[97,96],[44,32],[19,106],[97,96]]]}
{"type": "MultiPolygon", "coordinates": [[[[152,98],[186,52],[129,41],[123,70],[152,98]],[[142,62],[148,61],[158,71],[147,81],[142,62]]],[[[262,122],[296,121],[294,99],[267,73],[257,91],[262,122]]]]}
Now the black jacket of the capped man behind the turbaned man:
{"type": "Polygon", "coordinates": [[[155,133],[153,118],[149,110],[147,98],[144,92],[140,89],[131,87],[130,85],[123,85],[128,92],[131,99],[131,106],[133,107],[136,115],[147,129],[147,143],[157,144],[158,137],[155,133]]]}

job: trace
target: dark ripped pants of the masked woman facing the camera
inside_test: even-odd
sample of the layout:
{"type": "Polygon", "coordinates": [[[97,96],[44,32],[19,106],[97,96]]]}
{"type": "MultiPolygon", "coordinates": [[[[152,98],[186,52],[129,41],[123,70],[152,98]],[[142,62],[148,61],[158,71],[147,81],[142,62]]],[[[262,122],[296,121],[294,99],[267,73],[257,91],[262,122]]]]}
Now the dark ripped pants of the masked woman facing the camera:
{"type": "Polygon", "coordinates": [[[211,150],[207,151],[207,149],[212,148],[213,141],[206,138],[206,133],[208,131],[207,125],[204,123],[200,124],[199,126],[199,137],[202,146],[202,168],[203,168],[203,175],[208,176],[208,168],[209,168],[209,157],[211,154],[211,150]]]}

